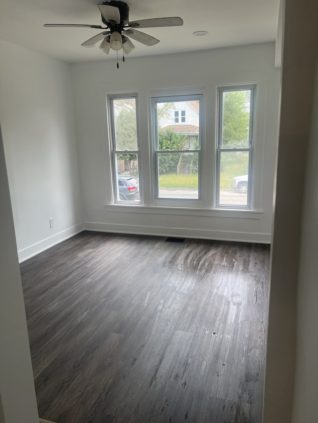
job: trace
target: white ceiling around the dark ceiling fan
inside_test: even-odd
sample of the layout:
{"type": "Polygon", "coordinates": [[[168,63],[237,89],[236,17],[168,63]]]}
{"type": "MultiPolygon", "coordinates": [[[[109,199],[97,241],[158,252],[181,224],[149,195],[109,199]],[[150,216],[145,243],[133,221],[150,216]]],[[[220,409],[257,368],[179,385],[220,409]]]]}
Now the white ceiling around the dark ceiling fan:
{"type": "MultiPolygon", "coordinates": [[[[145,28],[160,40],[147,47],[133,41],[129,57],[207,50],[275,41],[280,0],[126,0],[129,20],[180,16],[183,26],[145,28]],[[194,36],[205,30],[208,35],[194,36]]],[[[80,44],[101,30],[44,28],[45,23],[102,25],[97,7],[102,0],[0,0],[0,39],[67,61],[115,59],[80,44]]]]}

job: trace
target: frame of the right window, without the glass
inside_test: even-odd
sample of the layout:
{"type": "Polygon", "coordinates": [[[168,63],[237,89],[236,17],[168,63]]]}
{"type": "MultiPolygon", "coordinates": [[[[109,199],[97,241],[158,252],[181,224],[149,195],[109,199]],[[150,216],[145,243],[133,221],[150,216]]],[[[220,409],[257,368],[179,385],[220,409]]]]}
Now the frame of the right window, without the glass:
{"type": "Polygon", "coordinates": [[[252,209],[252,165],[254,154],[254,137],[255,137],[255,104],[256,104],[256,85],[232,85],[217,87],[217,140],[216,140],[216,187],[215,200],[216,208],[219,209],[252,209]],[[223,93],[229,91],[250,90],[250,113],[249,113],[249,139],[247,148],[224,148],[222,146],[223,136],[223,93]],[[220,171],[221,171],[221,153],[222,152],[246,151],[248,152],[248,184],[247,184],[247,201],[246,205],[228,205],[220,204],[220,171]]]}

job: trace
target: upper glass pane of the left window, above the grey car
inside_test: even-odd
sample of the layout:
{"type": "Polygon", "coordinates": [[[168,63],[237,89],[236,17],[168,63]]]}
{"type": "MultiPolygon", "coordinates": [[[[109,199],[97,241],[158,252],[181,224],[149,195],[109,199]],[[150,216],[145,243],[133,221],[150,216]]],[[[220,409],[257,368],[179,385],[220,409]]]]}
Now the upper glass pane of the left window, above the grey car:
{"type": "Polygon", "coordinates": [[[116,150],[137,150],[136,99],[113,99],[116,150]]]}

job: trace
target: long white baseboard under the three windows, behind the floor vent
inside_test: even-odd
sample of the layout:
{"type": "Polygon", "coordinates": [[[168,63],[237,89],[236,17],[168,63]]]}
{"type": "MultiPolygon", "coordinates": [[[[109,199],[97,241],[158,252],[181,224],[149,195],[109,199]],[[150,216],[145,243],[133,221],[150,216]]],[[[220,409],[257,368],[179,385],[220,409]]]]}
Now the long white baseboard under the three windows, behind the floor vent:
{"type": "Polygon", "coordinates": [[[182,237],[202,240],[256,242],[269,244],[270,234],[246,233],[233,231],[214,231],[189,228],[164,228],[142,225],[125,225],[111,223],[85,222],[84,230],[96,232],[113,232],[118,234],[157,235],[160,237],[182,237]]]}

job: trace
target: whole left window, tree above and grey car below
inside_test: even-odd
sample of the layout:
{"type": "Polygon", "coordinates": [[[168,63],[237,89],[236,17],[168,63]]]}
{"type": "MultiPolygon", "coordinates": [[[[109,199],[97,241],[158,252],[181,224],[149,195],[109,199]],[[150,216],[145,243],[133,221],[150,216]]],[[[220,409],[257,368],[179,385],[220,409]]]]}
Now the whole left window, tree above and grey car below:
{"type": "Polygon", "coordinates": [[[136,103],[136,96],[109,98],[115,202],[140,202],[136,103]]]}

